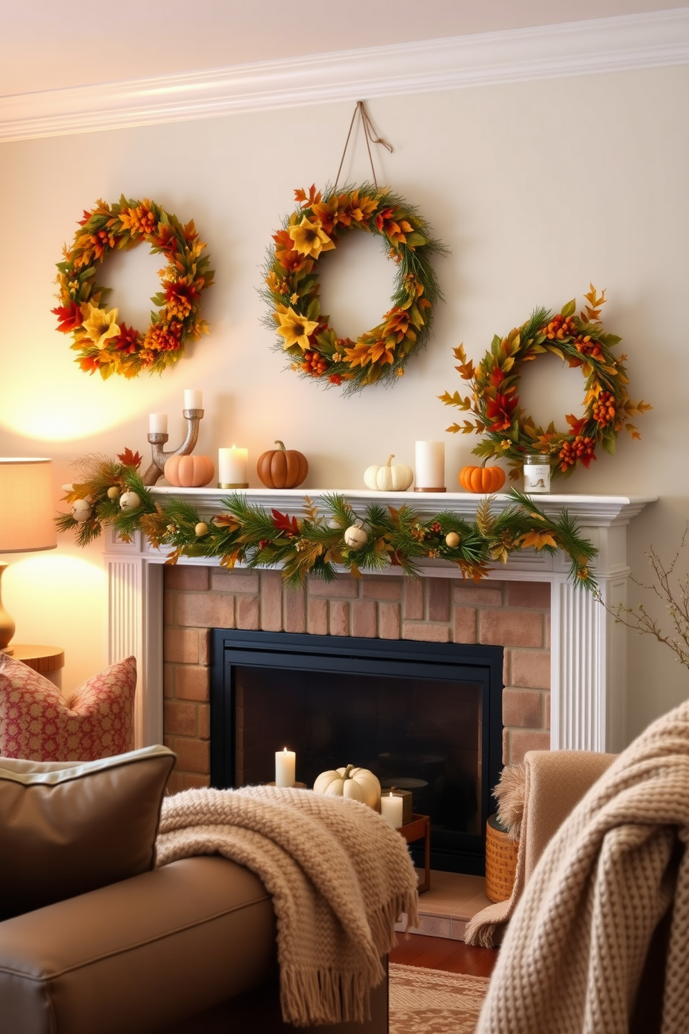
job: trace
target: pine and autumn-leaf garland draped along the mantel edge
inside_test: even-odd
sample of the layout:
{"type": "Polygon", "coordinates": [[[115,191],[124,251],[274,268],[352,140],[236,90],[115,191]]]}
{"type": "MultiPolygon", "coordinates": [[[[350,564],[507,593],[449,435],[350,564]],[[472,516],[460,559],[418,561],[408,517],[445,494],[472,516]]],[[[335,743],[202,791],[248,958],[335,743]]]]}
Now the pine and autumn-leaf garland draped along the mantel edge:
{"type": "Polygon", "coordinates": [[[219,557],[220,566],[228,569],[237,564],[281,568],[293,588],[302,587],[310,574],[333,581],[342,569],[361,577],[363,571],[399,567],[405,575],[417,577],[420,559],[456,564],[464,578],[479,582],[490,573],[489,565],[506,564],[521,549],[552,554],[563,550],[570,559],[570,580],[591,591],[597,588],[591,564],[598,551],[582,538],[569,514],[562,510],[551,518],[515,489],[509,492],[510,505],[499,513],[493,511],[491,498],[481,499],[474,521],[448,510],[421,518],[406,505],[396,509],[375,503],[359,515],[338,493],[324,496],[321,508],[306,496],[304,516],[299,518],[278,510],[268,512],[246,495],[232,493],[221,499],[222,512],[205,518],[184,499],[154,496],[137,473],[138,454],[132,456],[127,450],[119,458],[120,463],[98,456],[81,461],[82,481],[70,486],[65,500],[87,499],[91,513],[81,521],[71,514],[56,518],[61,531],[74,531],[80,546],[97,538],[103,525],[114,527],[125,542],[140,530],[153,546],[170,549],[166,564],[182,556],[205,556],[219,557]],[[123,492],[134,492],[139,506],[123,512],[119,501],[123,492]],[[345,531],[352,526],[366,533],[361,548],[345,541],[345,531]]]}

